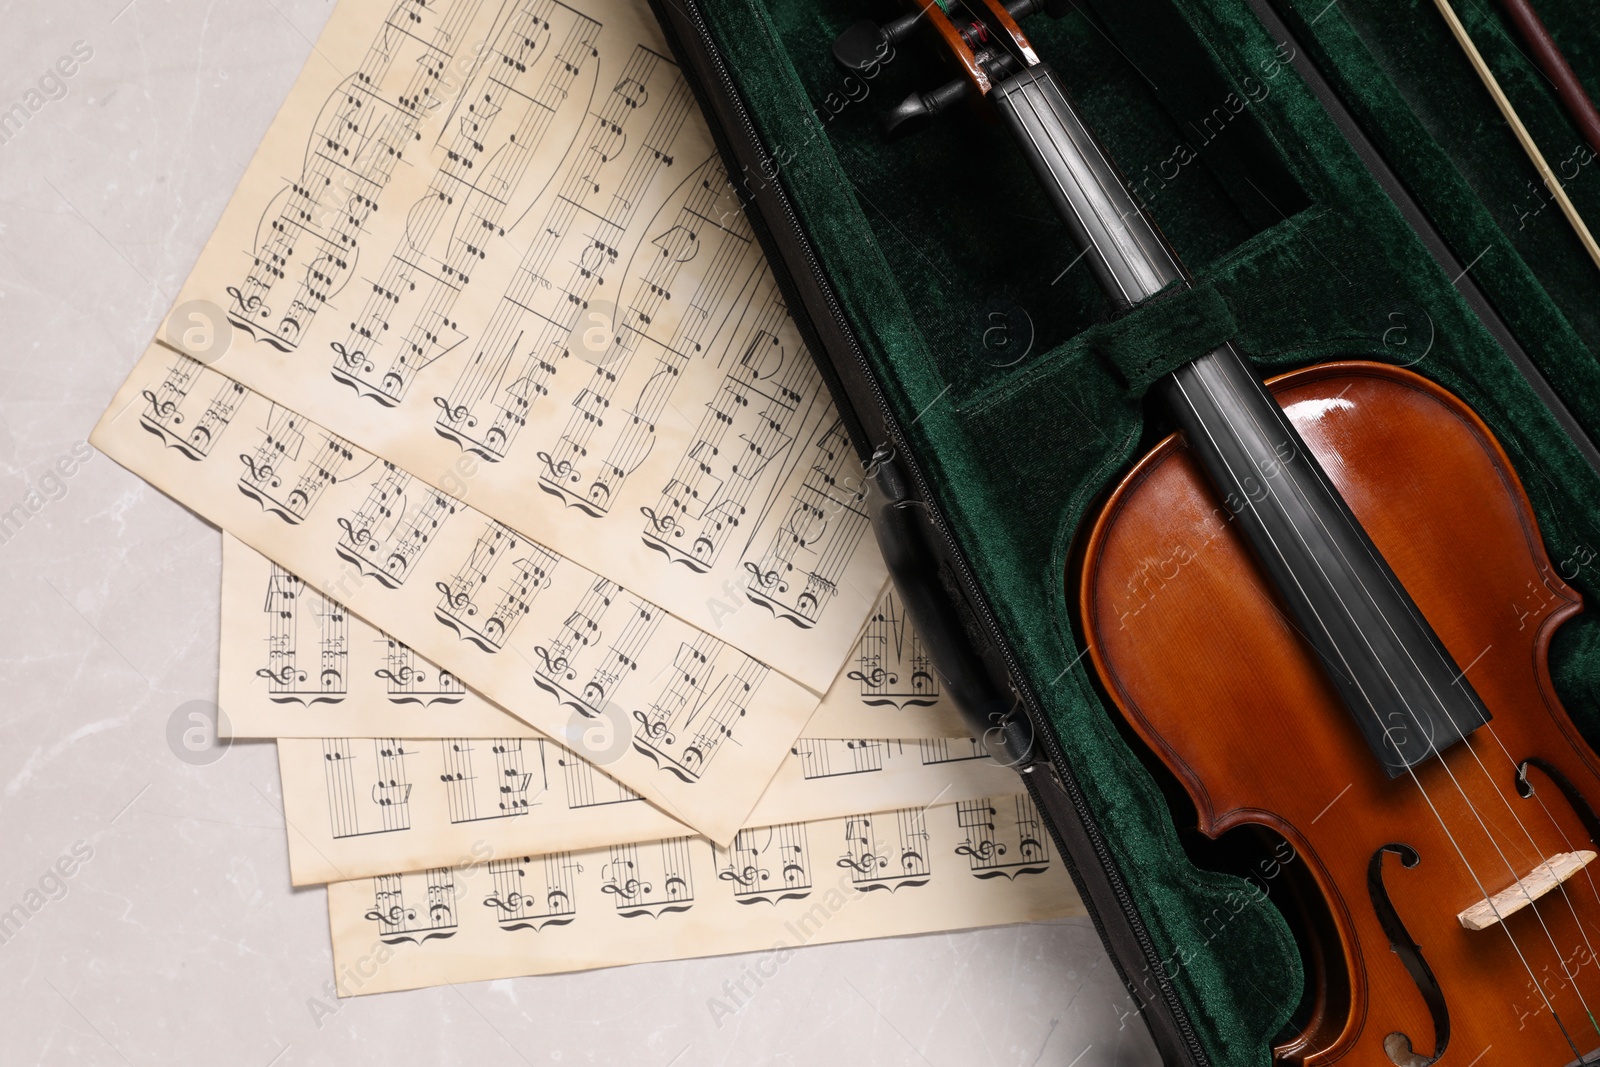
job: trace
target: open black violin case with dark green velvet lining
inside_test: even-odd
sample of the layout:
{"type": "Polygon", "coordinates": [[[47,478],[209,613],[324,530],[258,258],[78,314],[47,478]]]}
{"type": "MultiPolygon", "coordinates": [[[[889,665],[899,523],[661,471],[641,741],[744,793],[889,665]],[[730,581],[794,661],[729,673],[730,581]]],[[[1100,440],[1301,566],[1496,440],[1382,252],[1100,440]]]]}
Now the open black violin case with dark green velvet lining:
{"type": "MultiPolygon", "coordinates": [[[[1122,317],[998,123],[962,109],[883,138],[947,72],[912,40],[846,77],[830,45],[904,10],[653,2],[867,467],[896,584],[1072,869],[1123,1025],[1170,1064],[1270,1062],[1318,997],[1315,909],[1293,849],[1202,838],[1122,725],[1083,656],[1078,537],[1171,430],[1146,389],[1230,339],[1261,378],[1376,360],[1461,397],[1562,579],[1600,603],[1600,270],[1429,0],[1082,0],[1022,24],[1195,275],[1122,317]]],[[[1600,86],[1592,6],[1538,8],[1600,86]]],[[[1600,162],[1515,30],[1456,10],[1600,222],[1600,162]]],[[[1600,742],[1600,613],[1560,627],[1550,672],[1600,742]]]]}

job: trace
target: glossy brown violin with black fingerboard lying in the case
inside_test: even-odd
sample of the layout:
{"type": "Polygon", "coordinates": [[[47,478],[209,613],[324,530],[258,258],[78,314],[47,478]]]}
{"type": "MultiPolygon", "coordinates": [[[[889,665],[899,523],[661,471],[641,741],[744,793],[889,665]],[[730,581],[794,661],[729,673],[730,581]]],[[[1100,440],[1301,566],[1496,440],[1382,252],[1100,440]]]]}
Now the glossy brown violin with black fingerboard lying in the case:
{"type": "MultiPolygon", "coordinates": [[[[1192,286],[1024,35],[1043,6],[912,0],[834,54],[859,72],[931,38],[955,77],[894,107],[890,133],[986,110],[1120,309],[1192,286]]],[[[1600,1062],[1600,760],[1547,667],[1581,601],[1488,426],[1406,370],[1261,382],[1232,344],[1150,397],[1176,432],[1110,493],[1066,590],[1200,832],[1266,827],[1307,861],[1325,974],[1277,1059],[1600,1062]],[[1152,560],[1158,587],[1130,611],[1152,560]],[[1538,613],[1504,609],[1528,589],[1547,593],[1538,613]]]]}

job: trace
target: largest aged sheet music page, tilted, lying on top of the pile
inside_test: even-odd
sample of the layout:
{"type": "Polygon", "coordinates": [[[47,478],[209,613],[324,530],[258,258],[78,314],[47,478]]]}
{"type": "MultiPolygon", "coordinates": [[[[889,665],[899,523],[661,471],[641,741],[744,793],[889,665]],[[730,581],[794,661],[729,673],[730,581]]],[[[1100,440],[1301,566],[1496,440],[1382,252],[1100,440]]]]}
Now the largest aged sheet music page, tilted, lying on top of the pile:
{"type": "Polygon", "coordinates": [[[283,522],[349,442],[818,693],[883,587],[638,0],[344,0],[160,338],[283,405],[229,448],[283,522]]]}

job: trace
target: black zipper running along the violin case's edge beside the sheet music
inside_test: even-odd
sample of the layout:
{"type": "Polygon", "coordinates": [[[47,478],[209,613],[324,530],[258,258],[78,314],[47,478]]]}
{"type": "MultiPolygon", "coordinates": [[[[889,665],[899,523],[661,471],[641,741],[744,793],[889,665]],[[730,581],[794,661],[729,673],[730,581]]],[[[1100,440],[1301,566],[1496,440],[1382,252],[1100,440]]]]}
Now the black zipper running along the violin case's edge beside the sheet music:
{"type": "MultiPolygon", "coordinates": [[[[666,11],[661,10],[661,3],[664,0],[650,0],[650,2],[651,6],[656,10],[658,21],[662,24],[662,30],[670,35],[669,16],[666,11]]],[[[715,70],[718,82],[722,83],[723,98],[726,99],[728,106],[738,117],[747,144],[755,150],[758,160],[766,162],[768,157],[765,152],[765,146],[762,144],[760,134],[755,130],[755,123],[750,118],[749,109],[744,104],[744,98],[739,93],[739,88],[734,83],[731,74],[728,72],[728,64],[722,54],[722,48],[717,45],[717,40],[710,34],[710,26],[706,21],[706,13],[701,10],[699,2],[672,0],[672,3],[674,6],[678,6],[678,10],[683,11],[688,16],[688,21],[694,26],[694,30],[699,35],[699,45],[707,61],[710,62],[712,69],[715,70]]],[[[683,74],[686,78],[690,77],[688,70],[683,70],[683,74]]],[[[726,144],[726,134],[722,130],[718,130],[715,123],[710,125],[712,125],[712,136],[718,141],[718,149],[723,150],[723,157],[728,160],[736,158],[736,154],[730,150],[731,146],[726,144]]],[[[1038,808],[1040,816],[1050,827],[1051,837],[1056,841],[1056,851],[1061,854],[1062,862],[1067,864],[1069,870],[1072,870],[1074,880],[1077,880],[1077,872],[1074,869],[1072,861],[1069,859],[1069,851],[1062,832],[1056,825],[1054,819],[1050,817],[1048,805],[1045,803],[1040,785],[1035,779],[1035,771],[1040,766],[1040,763],[1046,766],[1046,771],[1051,774],[1053,781],[1058,785],[1061,785],[1061,792],[1066,793],[1067,800],[1072,803],[1072,808],[1078,816],[1078,822],[1083,825],[1085,837],[1090,841],[1090,846],[1094,849],[1094,857],[1099,862],[1101,870],[1106,875],[1107,885],[1110,886],[1112,894],[1118,902],[1118,907],[1123,913],[1123,920],[1126,921],[1130,933],[1133,934],[1134,941],[1141,949],[1141,953],[1144,955],[1146,969],[1149,969],[1152,974],[1157,976],[1157,987],[1162,992],[1162,1000],[1173,1019],[1173,1024],[1178,1027],[1179,1038],[1184,1045],[1184,1051],[1189,1054],[1190,1062],[1197,1065],[1210,1064],[1211,1061],[1206,1056],[1205,1048],[1200,1045],[1198,1037],[1195,1035],[1194,1024],[1189,1021],[1189,1013],[1178,998],[1176,987],[1163,974],[1162,958],[1155,949],[1155,941],[1150,937],[1150,931],[1146,926],[1144,918],[1139,915],[1139,910],[1133,902],[1133,896],[1128,893],[1128,886],[1122,877],[1122,870],[1112,859],[1104,835],[1099,832],[1099,825],[1094,821],[1094,814],[1090,811],[1088,801],[1083,797],[1083,790],[1078,785],[1077,777],[1067,766],[1066,750],[1061,747],[1061,741],[1056,737],[1053,726],[1045,717],[1043,709],[1040,707],[1032,686],[1026,681],[1016,653],[1011,649],[1010,641],[1002,632],[998,619],[990,609],[987,598],[978,587],[971,566],[966,561],[966,555],[957,544],[955,536],[952,534],[949,525],[944,520],[944,515],[933,504],[933,499],[928,491],[930,486],[922,472],[922,467],[915,462],[915,459],[912,459],[909,450],[906,448],[904,435],[899,430],[894,411],[890,408],[888,398],[885,397],[883,389],[878,386],[878,381],[874,376],[872,365],[867,360],[866,350],[861,347],[856,331],[850,325],[850,320],[845,315],[845,309],[838,302],[838,298],[834,293],[834,286],[822,269],[822,264],[816,254],[816,248],[811,245],[810,237],[805,234],[805,229],[800,224],[800,218],[794,210],[794,203],[790,202],[787,190],[782,187],[782,182],[776,179],[776,174],[768,182],[766,189],[770,190],[770,195],[784,213],[784,219],[789,226],[787,237],[805,254],[806,264],[811,267],[811,282],[816,286],[816,291],[821,294],[822,301],[826,302],[829,312],[832,314],[835,328],[838,330],[840,336],[845,338],[846,344],[850,346],[851,355],[862,370],[862,378],[867,382],[874,402],[877,402],[878,413],[883,418],[885,430],[893,438],[890,443],[896,446],[896,454],[902,458],[904,467],[910,472],[912,482],[917,486],[917,496],[925,506],[925,512],[930,517],[931,525],[939,531],[939,537],[944,542],[947,557],[958,568],[957,577],[962,584],[963,595],[976,611],[978,617],[982,621],[989,640],[1000,651],[1000,656],[1005,661],[1011,689],[1018,694],[1019,702],[1022,704],[1027,713],[1029,726],[1034,731],[1034,737],[1043,742],[1046,758],[1034,760],[1026,766],[1019,766],[1018,773],[1022,776],[1029,797],[1038,808]]],[[[786,277],[787,270],[774,262],[773,274],[779,280],[779,288],[784,290],[784,299],[790,304],[792,309],[798,312],[802,302],[795,299],[798,294],[794,291],[792,278],[786,277]]],[[[843,382],[838,379],[837,371],[834,371],[834,368],[827,365],[827,360],[816,360],[816,362],[822,370],[824,378],[827,379],[829,392],[834,395],[835,406],[840,410],[842,416],[853,419],[851,414],[846,414],[851,413],[851,400],[845,394],[843,382]]],[[[862,461],[867,461],[872,456],[874,450],[870,442],[867,440],[864,427],[859,424],[859,419],[854,419],[848,429],[858,454],[862,458],[862,461]]],[[[1088,899],[1085,899],[1085,909],[1088,910],[1090,918],[1094,923],[1094,929],[1101,936],[1101,941],[1106,942],[1107,937],[1104,923],[1098,915],[1094,905],[1088,899]]],[[[1115,957],[1112,957],[1112,963],[1117,965],[1118,971],[1122,971],[1122,965],[1117,961],[1115,957]]],[[[1128,976],[1123,974],[1122,977],[1125,987],[1138,1000],[1142,1001],[1144,995],[1141,995],[1138,992],[1138,987],[1134,987],[1134,984],[1128,981],[1128,976]]]]}

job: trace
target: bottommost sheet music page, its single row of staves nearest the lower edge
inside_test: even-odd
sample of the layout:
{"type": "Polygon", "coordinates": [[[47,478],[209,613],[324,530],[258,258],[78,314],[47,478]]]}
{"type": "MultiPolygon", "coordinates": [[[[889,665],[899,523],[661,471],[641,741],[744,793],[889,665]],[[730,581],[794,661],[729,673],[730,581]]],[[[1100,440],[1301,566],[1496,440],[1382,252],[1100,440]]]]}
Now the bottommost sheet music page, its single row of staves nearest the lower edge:
{"type": "Polygon", "coordinates": [[[805,944],[1083,905],[1022,795],[339,881],[328,915],[354,997],[726,952],[766,952],[771,977],[805,944]]]}

